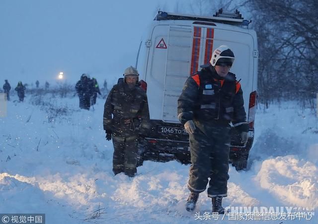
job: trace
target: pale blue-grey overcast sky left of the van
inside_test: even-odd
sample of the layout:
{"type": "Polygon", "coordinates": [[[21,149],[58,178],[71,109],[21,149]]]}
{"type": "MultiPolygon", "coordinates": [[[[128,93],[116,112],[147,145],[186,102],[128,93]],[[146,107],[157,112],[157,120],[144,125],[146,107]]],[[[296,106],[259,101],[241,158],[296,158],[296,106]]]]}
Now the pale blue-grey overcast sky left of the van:
{"type": "Polygon", "coordinates": [[[82,73],[115,82],[158,8],[176,1],[0,0],[0,83],[55,83],[61,71],[70,83],[82,73]]]}

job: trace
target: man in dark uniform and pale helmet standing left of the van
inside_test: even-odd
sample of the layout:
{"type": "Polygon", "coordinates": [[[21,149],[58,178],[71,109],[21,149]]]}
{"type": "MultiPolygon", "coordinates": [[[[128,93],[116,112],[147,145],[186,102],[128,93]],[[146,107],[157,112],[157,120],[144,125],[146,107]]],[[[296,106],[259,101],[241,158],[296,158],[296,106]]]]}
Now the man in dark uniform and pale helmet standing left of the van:
{"type": "Polygon", "coordinates": [[[137,172],[138,136],[149,129],[146,92],[138,84],[138,71],[130,66],[124,82],[114,85],[104,106],[103,125],[106,139],[113,139],[113,172],[129,177],[137,172]]]}

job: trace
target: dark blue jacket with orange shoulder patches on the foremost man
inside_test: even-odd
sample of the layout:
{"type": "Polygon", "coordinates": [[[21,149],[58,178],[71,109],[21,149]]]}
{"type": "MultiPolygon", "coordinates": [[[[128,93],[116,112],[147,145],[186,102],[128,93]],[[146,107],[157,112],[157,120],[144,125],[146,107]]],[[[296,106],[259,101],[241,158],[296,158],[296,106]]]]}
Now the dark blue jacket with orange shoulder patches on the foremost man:
{"type": "Polygon", "coordinates": [[[243,92],[235,74],[229,72],[222,79],[210,66],[190,76],[178,99],[178,118],[182,124],[188,120],[246,123],[243,92]]]}

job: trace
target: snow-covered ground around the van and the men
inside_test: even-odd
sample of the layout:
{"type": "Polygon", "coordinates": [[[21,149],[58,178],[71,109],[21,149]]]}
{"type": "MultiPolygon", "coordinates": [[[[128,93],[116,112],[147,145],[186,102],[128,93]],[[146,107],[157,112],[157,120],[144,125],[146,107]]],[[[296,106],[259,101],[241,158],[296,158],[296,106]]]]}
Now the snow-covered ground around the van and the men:
{"type": "MultiPolygon", "coordinates": [[[[78,104],[50,95],[8,102],[0,117],[0,213],[45,213],[47,224],[214,222],[206,192],[193,213],[184,209],[189,165],[145,161],[134,178],[114,176],[112,143],[102,130],[104,100],[97,99],[94,111],[78,104]]],[[[255,130],[249,170],[230,167],[223,205],[305,209],[308,216],[293,221],[292,215],[273,220],[275,211],[268,211],[270,221],[263,222],[318,223],[316,114],[293,102],[259,107],[255,130]]],[[[223,221],[242,222],[230,215],[223,221]]]]}

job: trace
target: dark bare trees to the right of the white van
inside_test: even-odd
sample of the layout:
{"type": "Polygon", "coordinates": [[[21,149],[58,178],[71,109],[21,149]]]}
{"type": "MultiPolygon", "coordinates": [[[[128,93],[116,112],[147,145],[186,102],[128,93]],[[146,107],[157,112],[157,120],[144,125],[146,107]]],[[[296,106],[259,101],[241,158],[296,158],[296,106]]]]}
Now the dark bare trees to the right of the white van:
{"type": "Polygon", "coordinates": [[[318,1],[251,0],[249,6],[261,97],[312,100],[318,92],[318,1]]]}

